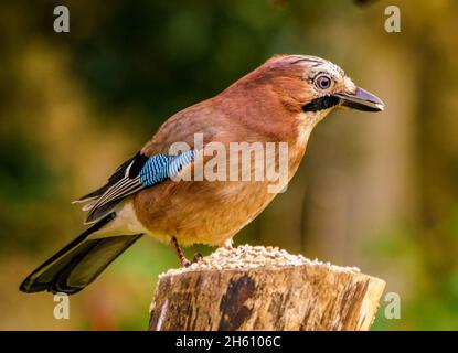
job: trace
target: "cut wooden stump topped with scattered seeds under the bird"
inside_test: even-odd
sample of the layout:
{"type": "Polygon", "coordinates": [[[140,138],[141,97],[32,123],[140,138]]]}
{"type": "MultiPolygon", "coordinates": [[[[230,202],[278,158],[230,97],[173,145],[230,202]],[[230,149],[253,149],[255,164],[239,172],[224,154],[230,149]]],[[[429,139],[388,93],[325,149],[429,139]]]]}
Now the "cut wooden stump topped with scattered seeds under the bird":
{"type": "Polygon", "coordinates": [[[369,330],[384,288],[278,248],[220,248],[159,277],[149,330],[369,330]]]}

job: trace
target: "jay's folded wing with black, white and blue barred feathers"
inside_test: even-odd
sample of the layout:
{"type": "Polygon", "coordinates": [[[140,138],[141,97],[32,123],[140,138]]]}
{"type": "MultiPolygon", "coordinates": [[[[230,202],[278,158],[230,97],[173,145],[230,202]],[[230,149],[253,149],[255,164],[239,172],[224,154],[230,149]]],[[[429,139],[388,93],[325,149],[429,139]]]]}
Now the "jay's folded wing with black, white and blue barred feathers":
{"type": "Polygon", "coordinates": [[[174,156],[155,154],[151,157],[138,152],[119,165],[104,186],[75,202],[89,202],[83,210],[89,211],[86,223],[94,223],[111,212],[125,197],[175,176],[184,165],[192,163],[194,157],[194,150],[174,156]]]}

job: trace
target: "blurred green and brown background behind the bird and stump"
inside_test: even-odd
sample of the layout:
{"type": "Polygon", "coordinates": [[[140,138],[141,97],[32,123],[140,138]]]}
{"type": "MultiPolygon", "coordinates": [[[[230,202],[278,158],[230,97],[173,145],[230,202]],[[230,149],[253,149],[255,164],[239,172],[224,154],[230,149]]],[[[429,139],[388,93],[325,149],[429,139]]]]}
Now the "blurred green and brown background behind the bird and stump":
{"type": "MultiPolygon", "coordinates": [[[[0,329],[143,330],[173,252],[143,238],[55,320],[20,281],[84,227],[100,185],[173,113],[276,53],[323,56],[386,104],[335,111],[289,190],[235,244],[358,266],[400,293],[375,330],[458,329],[458,2],[2,1],[0,329]],[[70,9],[71,33],[53,31],[70,9]],[[402,32],[384,30],[390,4],[402,32]]],[[[212,248],[199,247],[204,254],[212,248]]],[[[188,249],[193,254],[196,248],[188,249]]]]}

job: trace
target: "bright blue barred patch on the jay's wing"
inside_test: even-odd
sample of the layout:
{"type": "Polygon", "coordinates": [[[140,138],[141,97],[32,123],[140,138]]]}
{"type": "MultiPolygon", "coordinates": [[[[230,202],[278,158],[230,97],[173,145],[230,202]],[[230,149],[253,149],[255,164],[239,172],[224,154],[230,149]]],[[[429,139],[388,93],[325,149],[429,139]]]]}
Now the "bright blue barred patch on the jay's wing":
{"type": "Polygon", "coordinates": [[[194,150],[177,156],[152,156],[140,171],[141,184],[143,186],[152,186],[166,179],[175,176],[184,165],[190,164],[194,160],[194,150]]]}

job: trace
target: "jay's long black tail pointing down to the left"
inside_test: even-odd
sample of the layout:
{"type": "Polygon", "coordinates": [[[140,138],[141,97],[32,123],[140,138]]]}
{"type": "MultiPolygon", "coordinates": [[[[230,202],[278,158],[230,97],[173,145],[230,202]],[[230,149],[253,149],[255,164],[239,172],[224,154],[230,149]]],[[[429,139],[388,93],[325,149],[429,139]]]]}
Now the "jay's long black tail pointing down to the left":
{"type": "Polygon", "coordinates": [[[84,289],[141,237],[141,234],[136,234],[87,239],[92,233],[100,229],[115,216],[116,213],[113,212],[87,228],[30,274],[19,289],[26,293],[47,290],[67,295],[84,289]]]}

